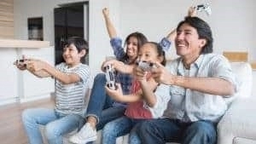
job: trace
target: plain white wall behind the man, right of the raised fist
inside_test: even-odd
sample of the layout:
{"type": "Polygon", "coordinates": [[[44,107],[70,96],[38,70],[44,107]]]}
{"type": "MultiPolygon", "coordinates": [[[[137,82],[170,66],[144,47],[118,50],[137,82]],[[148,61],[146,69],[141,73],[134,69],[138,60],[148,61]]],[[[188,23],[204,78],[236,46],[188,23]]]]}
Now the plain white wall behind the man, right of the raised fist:
{"type": "MultiPolygon", "coordinates": [[[[208,2],[212,15],[198,14],[212,27],[214,51],[248,51],[249,59],[256,60],[256,1],[254,0],[129,0],[121,3],[121,30],[140,31],[152,41],[159,41],[177,26],[191,5],[208,2]]],[[[175,54],[175,53],[172,53],[175,54]]]]}

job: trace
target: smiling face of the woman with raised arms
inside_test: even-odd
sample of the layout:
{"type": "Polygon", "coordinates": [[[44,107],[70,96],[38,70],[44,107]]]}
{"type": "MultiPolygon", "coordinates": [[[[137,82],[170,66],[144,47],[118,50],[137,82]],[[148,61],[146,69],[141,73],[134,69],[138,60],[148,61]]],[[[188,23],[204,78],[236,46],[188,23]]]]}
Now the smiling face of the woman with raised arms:
{"type": "Polygon", "coordinates": [[[137,37],[130,37],[126,43],[126,54],[130,60],[137,58],[138,40],[137,37]]]}

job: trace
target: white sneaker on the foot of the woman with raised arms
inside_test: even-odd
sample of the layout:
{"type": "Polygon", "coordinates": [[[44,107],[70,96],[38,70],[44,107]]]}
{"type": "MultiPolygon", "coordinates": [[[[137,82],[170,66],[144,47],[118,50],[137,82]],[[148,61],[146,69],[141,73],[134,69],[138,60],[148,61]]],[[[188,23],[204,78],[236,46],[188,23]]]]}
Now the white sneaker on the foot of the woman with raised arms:
{"type": "Polygon", "coordinates": [[[69,141],[77,144],[84,144],[89,141],[96,141],[97,132],[90,126],[90,123],[84,124],[78,133],[69,137],[69,141]]]}

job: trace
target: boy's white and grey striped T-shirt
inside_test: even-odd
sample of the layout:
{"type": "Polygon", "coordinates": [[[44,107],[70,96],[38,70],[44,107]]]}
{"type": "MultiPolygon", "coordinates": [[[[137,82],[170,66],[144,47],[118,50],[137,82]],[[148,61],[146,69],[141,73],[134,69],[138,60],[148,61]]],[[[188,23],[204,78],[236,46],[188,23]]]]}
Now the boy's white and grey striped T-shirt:
{"type": "Polygon", "coordinates": [[[83,114],[84,95],[88,89],[91,89],[93,78],[90,68],[87,65],[79,64],[74,67],[68,67],[65,62],[55,66],[61,72],[76,73],[80,81],[73,84],[62,84],[59,80],[55,81],[55,111],[63,114],[83,114]]]}

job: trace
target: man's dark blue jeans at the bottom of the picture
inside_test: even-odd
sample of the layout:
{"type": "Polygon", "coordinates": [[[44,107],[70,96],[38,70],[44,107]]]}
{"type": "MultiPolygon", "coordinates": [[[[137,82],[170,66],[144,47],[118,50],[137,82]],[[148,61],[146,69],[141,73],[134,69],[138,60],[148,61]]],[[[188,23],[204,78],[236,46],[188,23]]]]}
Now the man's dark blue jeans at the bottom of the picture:
{"type": "Polygon", "coordinates": [[[143,122],[137,129],[138,136],[145,144],[215,144],[217,141],[216,124],[204,120],[183,123],[170,118],[153,119],[143,122]]]}

